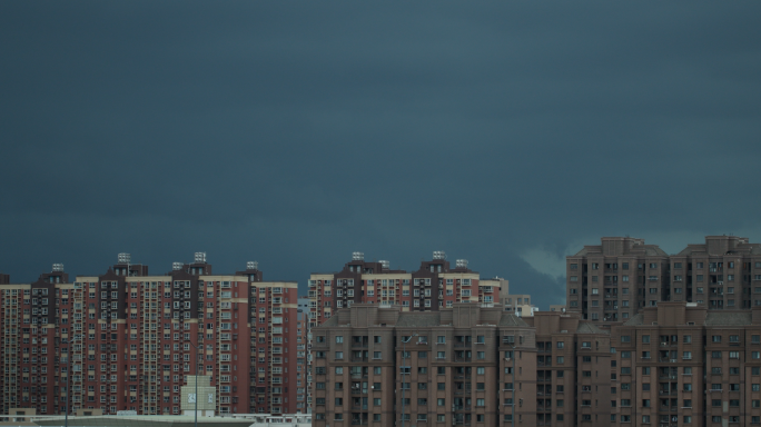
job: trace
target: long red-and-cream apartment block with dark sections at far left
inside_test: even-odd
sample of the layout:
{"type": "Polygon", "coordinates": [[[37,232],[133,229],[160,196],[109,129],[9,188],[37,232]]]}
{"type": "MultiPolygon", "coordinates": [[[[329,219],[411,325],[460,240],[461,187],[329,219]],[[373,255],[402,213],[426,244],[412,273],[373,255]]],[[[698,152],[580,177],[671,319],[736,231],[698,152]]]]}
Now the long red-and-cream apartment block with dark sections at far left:
{"type": "Polygon", "coordinates": [[[217,388],[219,414],[297,411],[296,375],[306,376],[297,284],[261,281],[256,262],[214,275],[198,252],[151,276],[120,254],[101,276],[69,282],[55,265],[34,284],[0,291],[6,414],[67,405],[179,414],[180,388],[196,374],[217,388]]]}

